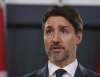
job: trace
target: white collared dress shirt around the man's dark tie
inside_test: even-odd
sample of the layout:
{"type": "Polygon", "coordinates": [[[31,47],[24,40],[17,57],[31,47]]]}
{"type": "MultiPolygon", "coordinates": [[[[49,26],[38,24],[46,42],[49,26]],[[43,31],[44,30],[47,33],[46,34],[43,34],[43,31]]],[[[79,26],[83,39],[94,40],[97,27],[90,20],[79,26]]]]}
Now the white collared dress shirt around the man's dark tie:
{"type": "Polygon", "coordinates": [[[49,77],[56,77],[55,71],[58,69],[64,69],[65,71],[67,71],[65,74],[62,75],[62,77],[74,77],[77,66],[77,59],[75,59],[74,62],[65,66],[64,68],[60,68],[48,61],[49,77]]]}

